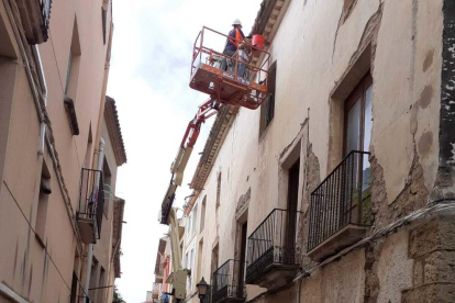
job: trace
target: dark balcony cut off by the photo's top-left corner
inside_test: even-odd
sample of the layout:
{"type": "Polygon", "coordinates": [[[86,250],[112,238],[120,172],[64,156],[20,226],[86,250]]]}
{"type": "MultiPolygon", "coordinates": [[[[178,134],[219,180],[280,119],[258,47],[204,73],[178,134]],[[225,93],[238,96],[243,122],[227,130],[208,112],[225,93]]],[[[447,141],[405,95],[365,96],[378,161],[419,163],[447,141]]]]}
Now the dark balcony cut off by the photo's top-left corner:
{"type": "Polygon", "coordinates": [[[52,0],[15,0],[22,26],[30,44],[46,42],[49,29],[52,0]]]}

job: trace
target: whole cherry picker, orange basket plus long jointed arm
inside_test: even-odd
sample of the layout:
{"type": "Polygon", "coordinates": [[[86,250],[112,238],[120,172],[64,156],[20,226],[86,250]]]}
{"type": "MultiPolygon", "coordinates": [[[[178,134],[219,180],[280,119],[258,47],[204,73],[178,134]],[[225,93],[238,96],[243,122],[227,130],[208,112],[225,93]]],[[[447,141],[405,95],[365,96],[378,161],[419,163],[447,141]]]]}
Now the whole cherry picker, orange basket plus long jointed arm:
{"type": "Polygon", "coordinates": [[[190,87],[198,91],[208,93],[210,99],[199,106],[197,114],[187,126],[184,138],[178,148],[176,159],[170,166],[171,178],[163,199],[159,216],[162,224],[170,225],[174,271],[167,279],[167,282],[173,284],[174,290],[171,294],[177,302],[185,299],[188,270],[181,268],[180,237],[178,232],[176,209],[173,209],[173,203],[177,188],[180,187],[184,181],[184,172],[191,156],[196,141],[198,139],[201,125],[207,119],[215,115],[222,104],[238,105],[255,110],[260,106],[268,94],[267,82],[270,55],[262,49],[264,45],[264,37],[260,35],[253,36],[253,45],[251,46],[252,52],[256,52],[256,55],[262,61],[262,64],[256,67],[244,59],[240,59],[238,52],[236,53],[236,56],[231,57],[214,52],[211,47],[207,47],[207,45],[203,46],[203,42],[209,41],[203,38],[204,32],[214,33],[230,38],[220,32],[202,27],[202,31],[199,33],[193,44],[190,87]],[[218,59],[215,59],[215,57],[218,59]],[[234,61],[235,68],[233,70],[222,70],[220,66],[215,66],[215,61],[221,63],[223,59],[234,61]],[[203,60],[207,63],[204,64],[203,60]],[[244,78],[245,75],[238,75],[237,71],[241,66],[253,71],[253,75],[256,75],[257,79],[260,80],[259,83],[252,81],[253,77],[246,76],[246,79],[244,78]]]}

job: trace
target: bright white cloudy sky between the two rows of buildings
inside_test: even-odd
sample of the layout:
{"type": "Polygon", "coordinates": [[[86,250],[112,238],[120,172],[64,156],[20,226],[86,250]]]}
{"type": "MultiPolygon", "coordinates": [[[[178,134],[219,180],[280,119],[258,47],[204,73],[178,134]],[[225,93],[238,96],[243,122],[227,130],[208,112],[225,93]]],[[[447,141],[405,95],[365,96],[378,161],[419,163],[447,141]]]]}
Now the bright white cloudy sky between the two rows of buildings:
{"type": "MultiPolygon", "coordinates": [[[[115,189],[126,200],[122,278],[116,285],[126,303],[141,303],[152,290],[158,242],[167,233],[167,226],[158,223],[158,211],[170,180],[170,165],[188,122],[208,99],[189,88],[192,44],[203,25],[228,33],[236,18],[248,34],[262,0],[112,2],[108,96],[116,102],[127,156],[127,164],[119,168],[115,189]]],[[[185,184],[192,178],[213,120],[202,126],[176,205],[191,194],[185,184]]]]}

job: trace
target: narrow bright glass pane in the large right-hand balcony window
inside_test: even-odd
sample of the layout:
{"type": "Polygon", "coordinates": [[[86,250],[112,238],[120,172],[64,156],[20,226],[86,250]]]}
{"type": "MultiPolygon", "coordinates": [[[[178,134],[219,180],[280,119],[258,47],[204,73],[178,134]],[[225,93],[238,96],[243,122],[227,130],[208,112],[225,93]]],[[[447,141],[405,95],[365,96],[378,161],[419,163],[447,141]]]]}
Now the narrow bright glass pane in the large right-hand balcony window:
{"type": "MultiPolygon", "coordinates": [[[[373,106],[371,106],[373,85],[365,91],[365,132],[364,132],[364,150],[369,150],[369,143],[371,141],[373,128],[373,106]]],[[[363,184],[362,190],[366,190],[370,184],[370,168],[368,161],[368,155],[364,156],[363,160],[363,184]]]]}

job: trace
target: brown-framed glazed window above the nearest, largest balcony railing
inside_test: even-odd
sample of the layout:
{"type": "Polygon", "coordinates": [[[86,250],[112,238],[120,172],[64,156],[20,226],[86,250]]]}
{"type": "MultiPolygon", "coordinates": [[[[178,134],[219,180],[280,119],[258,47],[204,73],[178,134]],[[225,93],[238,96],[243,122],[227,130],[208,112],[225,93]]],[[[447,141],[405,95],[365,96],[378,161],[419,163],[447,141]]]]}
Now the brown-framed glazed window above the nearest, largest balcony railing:
{"type": "MultiPolygon", "coordinates": [[[[344,156],[352,150],[368,152],[373,128],[373,79],[368,74],[344,104],[344,156]]],[[[367,155],[362,167],[362,189],[369,188],[370,168],[367,155]]]]}

